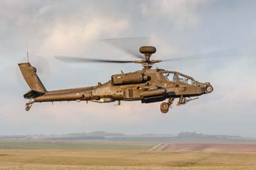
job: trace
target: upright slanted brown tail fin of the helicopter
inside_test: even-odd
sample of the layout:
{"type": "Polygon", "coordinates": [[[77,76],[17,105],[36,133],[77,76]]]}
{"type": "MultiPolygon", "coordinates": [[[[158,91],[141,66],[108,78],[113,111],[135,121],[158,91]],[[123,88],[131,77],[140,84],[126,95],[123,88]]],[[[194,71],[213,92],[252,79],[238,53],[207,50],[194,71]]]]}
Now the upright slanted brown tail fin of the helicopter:
{"type": "Polygon", "coordinates": [[[47,91],[40,81],[39,77],[36,75],[36,68],[31,66],[30,63],[19,63],[20,71],[28,83],[29,88],[31,91],[44,93],[47,91]]]}

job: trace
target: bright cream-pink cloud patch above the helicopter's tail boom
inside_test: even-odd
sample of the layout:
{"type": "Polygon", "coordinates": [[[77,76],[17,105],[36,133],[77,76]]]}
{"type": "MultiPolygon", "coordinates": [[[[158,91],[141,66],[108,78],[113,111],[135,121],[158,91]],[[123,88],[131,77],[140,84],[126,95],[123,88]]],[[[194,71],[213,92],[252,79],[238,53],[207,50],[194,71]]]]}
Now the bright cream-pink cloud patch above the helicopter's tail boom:
{"type": "Polygon", "coordinates": [[[82,24],[60,23],[47,35],[39,53],[44,54],[51,51],[53,54],[68,55],[81,52],[84,49],[89,49],[90,44],[100,36],[114,37],[129,27],[129,20],[110,17],[95,17],[82,24]]]}

